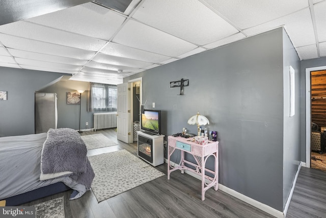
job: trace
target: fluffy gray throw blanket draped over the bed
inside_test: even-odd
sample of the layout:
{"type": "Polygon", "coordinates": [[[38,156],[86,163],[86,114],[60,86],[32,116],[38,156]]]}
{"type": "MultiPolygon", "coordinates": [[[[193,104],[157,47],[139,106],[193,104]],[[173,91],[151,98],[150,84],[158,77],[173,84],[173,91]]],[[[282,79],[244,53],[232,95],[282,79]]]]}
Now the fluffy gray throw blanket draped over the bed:
{"type": "MultiPolygon", "coordinates": [[[[87,190],[91,188],[95,174],[87,158],[86,145],[76,130],[48,130],[42,150],[41,172],[59,177],[63,176],[60,173],[65,172],[69,180],[85,185],[87,190]]],[[[67,178],[63,178],[65,181],[68,181],[67,178]]]]}

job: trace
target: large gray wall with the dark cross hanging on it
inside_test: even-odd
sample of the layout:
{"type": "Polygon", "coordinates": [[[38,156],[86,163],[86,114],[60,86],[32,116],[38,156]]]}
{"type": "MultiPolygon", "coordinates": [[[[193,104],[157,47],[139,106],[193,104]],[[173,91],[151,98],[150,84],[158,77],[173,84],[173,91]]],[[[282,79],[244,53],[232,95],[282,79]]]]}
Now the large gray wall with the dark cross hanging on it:
{"type": "MultiPolygon", "coordinates": [[[[196,133],[187,120],[198,111],[206,116],[208,130],[219,132],[219,182],[279,211],[289,185],[283,184],[283,61],[297,58],[292,49],[283,60],[282,45],[277,29],[124,79],[143,77],[143,103],[162,110],[162,134],[182,127],[196,133]],[[181,78],[189,79],[183,96],[169,87],[181,78]]],[[[212,161],[207,165],[213,168],[212,161]]]]}

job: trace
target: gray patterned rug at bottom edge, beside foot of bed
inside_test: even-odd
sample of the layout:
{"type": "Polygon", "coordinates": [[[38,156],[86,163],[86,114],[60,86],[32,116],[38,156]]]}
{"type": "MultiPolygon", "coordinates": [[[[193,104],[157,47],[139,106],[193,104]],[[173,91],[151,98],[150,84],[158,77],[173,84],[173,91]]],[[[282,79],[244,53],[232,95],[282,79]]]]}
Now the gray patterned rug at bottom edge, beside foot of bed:
{"type": "Polygon", "coordinates": [[[64,218],[64,197],[33,205],[36,218],[64,218]]]}

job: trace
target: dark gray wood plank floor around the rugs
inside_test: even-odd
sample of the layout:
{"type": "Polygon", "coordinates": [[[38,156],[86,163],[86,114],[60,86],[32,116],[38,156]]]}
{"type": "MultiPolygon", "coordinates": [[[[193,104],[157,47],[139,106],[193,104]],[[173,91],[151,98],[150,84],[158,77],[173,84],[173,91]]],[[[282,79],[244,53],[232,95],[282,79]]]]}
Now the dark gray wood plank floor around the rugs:
{"type": "MultiPolygon", "coordinates": [[[[82,135],[102,133],[116,141],[117,146],[90,150],[88,155],[125,149],[137,155],[136,144],[117,140],[114,129],[86,131],[82,135]]],[[[167,165],[155,167],[167,174],[167,165]]],[[[298,176],[293,197],[286,217],[325,217],[326,214],[326,172],[302,168],[298,176]]],[[[97,202],[92,189],[83,197],[69,200],[71,190],[33,202],[40,202],[64,196],[66,217],[273,217],[221,190],[207,190],[205,201],[201,201],[201,182],[187,174],[172,172],[170,180],[162,176],[135,187],[120,195],[97,202]],[[197,188],[196,188],[197,187],[197,188]]]]}

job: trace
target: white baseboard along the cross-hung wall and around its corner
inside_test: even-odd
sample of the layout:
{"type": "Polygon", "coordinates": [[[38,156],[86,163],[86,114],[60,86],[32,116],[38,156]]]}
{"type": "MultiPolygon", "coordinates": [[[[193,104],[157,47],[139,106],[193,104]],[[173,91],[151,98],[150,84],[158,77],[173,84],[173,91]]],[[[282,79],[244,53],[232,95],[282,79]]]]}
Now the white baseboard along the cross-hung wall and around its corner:
{"type": "MultiPolygon", "coordinates": [[[[168,163],[168,159],[164,159],[164,161],[166,163],[168,163]]],[[[178,166],[178,164],[175,163],[175,162],[170,161],[170,163],[171,163],[172,166],[178,166]]],[[[297,172],[295,174],[293,185],[292,185],[292,188],[291,188],[289,197],[288,197],[288,199],[286,201],[286,204],[285,204],[285,207],[284,207],[284,211],[283,212],[282,211],[279,211],[279,210],[277,210],[277,209],[275,209],[273,207],[270,207],[270,206],[268,206],[266,204],[263,204],[263,203],[261,203],[259,201],[256,201],[256,200],[254,200],[252,198],[249,198],[248,196],[245,196],[245,195],[243,195],[241,193],[238,193],[235,190],[233,190],[233,189],[231,189],[231,188],[229,188],[227,186],[224,186],[224,185],[222,185],[220,183],[219,183],[219,190],[221,190],[222,192],[225,192],[225,193],[227,193],[227,194],[229,194],[229,195],[231,195],[231,196],[233,196],[233,197],[235,197],[235,198],[237,198],[237,199],[239,199],[239,200],[241,200],[243,202],[246,202],[246,203],[248,203],[248,204],[250,204],[250,205],[252,205],[252,206],[254,206],[254,207],[256,207],[256,208],[258,208],[258,209],[260,209],[260,210],[262,210],[264,212],[266,212],[266,213],[269,213],[269,214],[271,214],[271,215],[273,215],[275,217],[284,218],[286,216],[288,207],[290,205],[291,198],[292,198],[293,191],[294,191],[294,187],[295,187],[295,184],[296,184],[296,180],[297,180],[297,177],[299,175],[299,172],[300,172],[301,167],[302,167],[302,162],[298,166],[298,170],[297,170],[297,172]]],[[[193,176],[193,177],[201,180],[201,177],[199,175],[197,175],[197,174],[195,174],[195,173],[193,173],[191,171],[185,170],[184,172],[186,174],[188,174],[188,175],[191,175],[191,176],[193,176]]]]}

